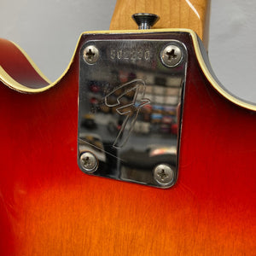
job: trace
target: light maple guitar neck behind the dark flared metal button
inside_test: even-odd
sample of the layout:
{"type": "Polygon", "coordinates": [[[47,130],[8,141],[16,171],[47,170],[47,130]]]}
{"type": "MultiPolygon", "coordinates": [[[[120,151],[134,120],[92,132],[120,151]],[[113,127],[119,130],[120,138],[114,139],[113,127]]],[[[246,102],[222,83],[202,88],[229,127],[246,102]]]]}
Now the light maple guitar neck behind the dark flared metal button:
{"type": "Polygon", "coordinates": [[[117,0],[110,29],[137,29],[131,15],[152,13],[160,16],[154,28],[189,28],[207,45],[209,7],[207,0],[117,0]]]}

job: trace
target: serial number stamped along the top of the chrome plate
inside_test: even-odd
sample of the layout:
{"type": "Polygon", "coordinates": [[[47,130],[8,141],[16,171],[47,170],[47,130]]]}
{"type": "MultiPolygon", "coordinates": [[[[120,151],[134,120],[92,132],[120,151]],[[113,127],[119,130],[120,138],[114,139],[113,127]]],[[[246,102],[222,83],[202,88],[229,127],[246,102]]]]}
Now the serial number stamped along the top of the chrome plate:
{"type": "Polygon", "coordinates": [[[110,49],[112,60],[149,61],[149,49],[110,49]]]}

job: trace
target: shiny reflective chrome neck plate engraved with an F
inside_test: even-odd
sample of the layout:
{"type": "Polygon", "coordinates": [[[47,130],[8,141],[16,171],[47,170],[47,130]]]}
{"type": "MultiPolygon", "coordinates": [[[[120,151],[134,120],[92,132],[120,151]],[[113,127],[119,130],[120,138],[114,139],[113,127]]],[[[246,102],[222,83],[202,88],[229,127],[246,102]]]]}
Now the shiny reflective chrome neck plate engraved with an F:
{"type": "Polygon", "coordinates": [[[186,67],[187,50],[176,40],[86,42],[79,69],[80,169],[84,172],[81,155],[90,152],[98,160],[91,175],[171,187],[177,180],[177,113],[186,67]],[[182,51],[176,67],[166,67],[160,58],[170,44],[182,51]],[[99,51],[94,65],[84,61],[89,45],[99,51]],[[161,165],[171,170],[164,168],[163,180],[155,173],[161,165]]]}

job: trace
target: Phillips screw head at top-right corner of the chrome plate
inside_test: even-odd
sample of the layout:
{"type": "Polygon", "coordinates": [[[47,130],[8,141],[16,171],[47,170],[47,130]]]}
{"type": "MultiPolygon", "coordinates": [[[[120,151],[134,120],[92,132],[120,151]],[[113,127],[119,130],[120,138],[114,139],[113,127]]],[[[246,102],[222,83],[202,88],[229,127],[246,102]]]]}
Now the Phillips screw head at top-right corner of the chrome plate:
{"type": "Polygon", "coordinates": [[[177,45],[169,44],[161,50],[160,58],[167,67],[175,67],[182,60],[182,50],[177,45]]]}

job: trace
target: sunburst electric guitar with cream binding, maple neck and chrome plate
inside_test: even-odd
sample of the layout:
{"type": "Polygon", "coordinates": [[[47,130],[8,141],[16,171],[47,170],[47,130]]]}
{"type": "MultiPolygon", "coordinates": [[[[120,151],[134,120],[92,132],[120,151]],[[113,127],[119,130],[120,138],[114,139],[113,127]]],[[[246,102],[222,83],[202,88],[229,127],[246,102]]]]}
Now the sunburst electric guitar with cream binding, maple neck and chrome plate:
{"type": "Polygon", "coordinates": [[[119,0],[54,83],[0,40],[1,255],[255,254],[256,106],[191,4],[119,0]]]}

